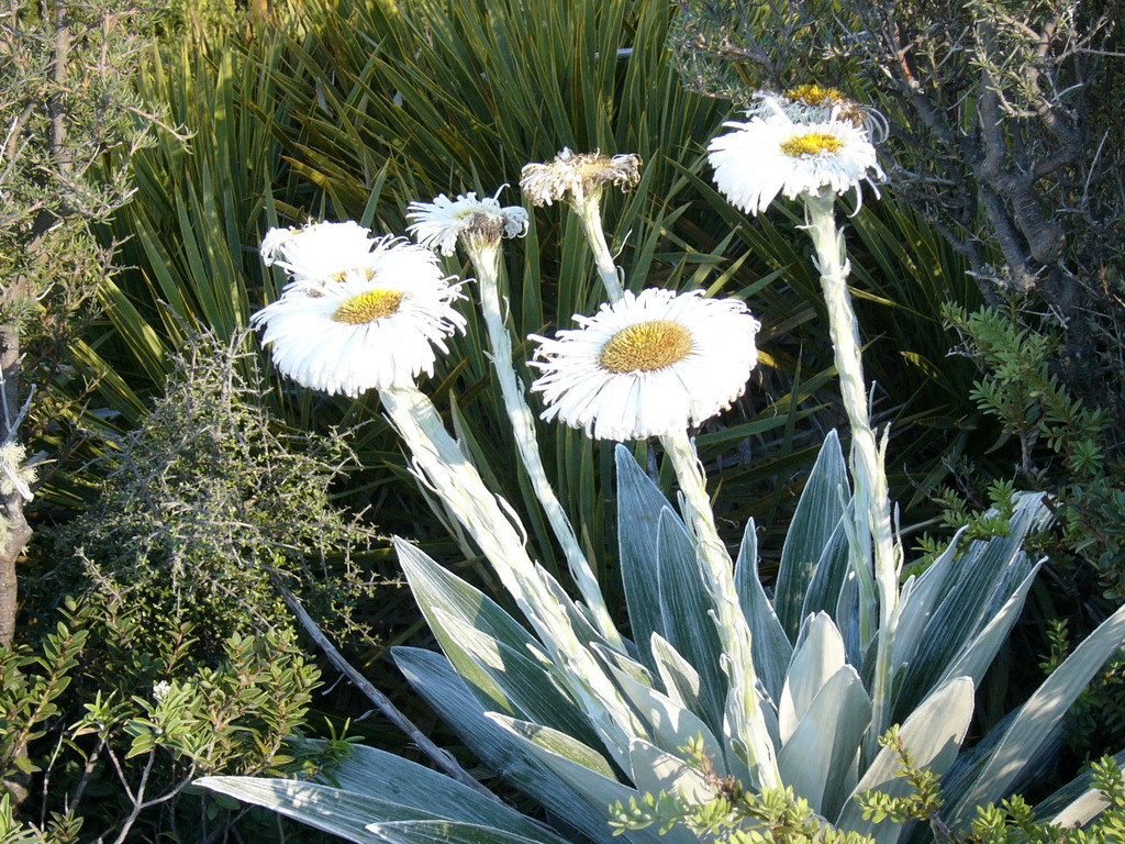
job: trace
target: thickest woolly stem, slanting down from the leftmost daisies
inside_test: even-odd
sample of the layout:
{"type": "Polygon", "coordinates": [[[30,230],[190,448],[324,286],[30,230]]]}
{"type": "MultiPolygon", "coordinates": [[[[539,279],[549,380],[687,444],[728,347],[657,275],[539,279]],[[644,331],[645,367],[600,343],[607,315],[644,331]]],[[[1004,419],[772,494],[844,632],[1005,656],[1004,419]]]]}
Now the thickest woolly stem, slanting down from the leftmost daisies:
{"type": "Polygon", "coordinates": [[[628,767],[630,740],[645,736],[645,729],[578,638],[561,603],[561,590],[528,556],[525,533],[514,513],[489,492],[421,390],[414,386],[394,387],[380,389],[379,397],[410,450],[418,479],[442,499],[471,535],[560,666],[556,676],[566,683],[618,764],[628,767]]]}

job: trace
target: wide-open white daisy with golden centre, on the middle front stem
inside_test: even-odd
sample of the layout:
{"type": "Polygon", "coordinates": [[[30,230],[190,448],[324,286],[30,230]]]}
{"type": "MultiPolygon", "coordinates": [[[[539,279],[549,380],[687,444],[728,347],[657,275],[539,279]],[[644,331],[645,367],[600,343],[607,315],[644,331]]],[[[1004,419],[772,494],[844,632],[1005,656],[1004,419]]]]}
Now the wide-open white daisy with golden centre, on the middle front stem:
{"type": "Polygon", "coordinates": [[[540,343],[542,419],[558,417],[594,439],[632,440],[684,431],[742,395],[757,362],[759,324],[738,299],[701,291],[630,290],[578,329],[540,343]]]}

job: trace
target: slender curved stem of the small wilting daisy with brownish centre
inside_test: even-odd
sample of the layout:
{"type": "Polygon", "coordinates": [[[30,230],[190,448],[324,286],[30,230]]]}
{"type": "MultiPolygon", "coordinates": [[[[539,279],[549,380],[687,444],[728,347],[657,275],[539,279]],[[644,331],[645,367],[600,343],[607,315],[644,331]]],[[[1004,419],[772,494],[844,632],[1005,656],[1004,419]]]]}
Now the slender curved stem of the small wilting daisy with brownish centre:
{"type": "Polygon", "coordinates": [[[504,397],[504,410],[515,434],[516,448],[523,468],[531,481],[536,493],[562,553],[566,555],[570,576],[574,577],[586,607],[593,616],[594,626],[605,637],[606,641],[623,652],[624,646],[610,617],[602,589],[591,571],[590,563],[582,551],[578,537],[574,532],[570,519],[555,490],[547,479],[542,457],[539,454],[539,441],[536,436],[534,417],[524,398],[523,386],[520,384],[515,368],[512,366],[512,338],[504,325],[504,309],[500,294],[500,245],[496,243],[469,243],[469,258],[477,270],[477,282],[480,290],[480,309],[488,329],[488,343],[492,349],[493,368],[504,397]]]}

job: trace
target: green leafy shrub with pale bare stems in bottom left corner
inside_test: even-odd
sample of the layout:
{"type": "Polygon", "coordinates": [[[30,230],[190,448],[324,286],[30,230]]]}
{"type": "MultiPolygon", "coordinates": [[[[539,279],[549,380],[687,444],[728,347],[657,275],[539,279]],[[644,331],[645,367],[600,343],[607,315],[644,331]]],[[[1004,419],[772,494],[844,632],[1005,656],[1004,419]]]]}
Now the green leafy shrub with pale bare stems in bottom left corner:
{"type": "Polygon", "coordinates": [[[0,698],[11,728],[0,730],[0,773],[37,787],[21,823],[0,807],[4,844],[62,844],[79,832],[119,843],[161,832],[228,839],[241,812],[200,801],[195,776],[312,775],[348,753],[345,740],[290,740],[307,731],[320,684],[292,631],[233,635],[212,659],[191,653],[190,625],[166,627],[153,652],[144,614],[128,603],[68,600],[63,616],[36,652],[0,652],[11,679],[0,698]]]}

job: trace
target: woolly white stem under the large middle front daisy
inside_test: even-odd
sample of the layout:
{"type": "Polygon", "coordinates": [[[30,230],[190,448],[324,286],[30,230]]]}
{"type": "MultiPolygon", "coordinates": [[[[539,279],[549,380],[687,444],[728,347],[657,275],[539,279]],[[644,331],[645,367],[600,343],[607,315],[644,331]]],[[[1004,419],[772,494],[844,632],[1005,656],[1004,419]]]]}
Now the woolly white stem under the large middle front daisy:
{"type": "Polygon", "coordinates": [[[723,668],[731,689],[727,698],[727,716],[731,719],[734,734],[744,743],[746,761],[757,787],[780,788],[781,774],[773,740],[758,701],[750,628],[738,600],[730,555],[714,526],[703,467],[686,430],[662,437],[660,442],[676,472],[684,519],[692,532],[709,590],[719,608],[719,638],[727,657],[723,668]]]}

